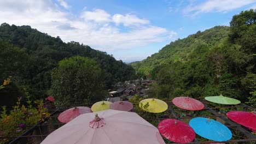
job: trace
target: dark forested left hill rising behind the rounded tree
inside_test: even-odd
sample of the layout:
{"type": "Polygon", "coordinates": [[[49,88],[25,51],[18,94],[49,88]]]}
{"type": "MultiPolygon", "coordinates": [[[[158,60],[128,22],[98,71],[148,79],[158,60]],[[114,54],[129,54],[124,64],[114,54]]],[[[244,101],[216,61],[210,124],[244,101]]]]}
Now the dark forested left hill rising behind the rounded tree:
{"type": "Polygon", "coordinates": [[[71,41],[63,43],[57,37],[32,29],[2,23],[0,26],[0,80],[13,76],[13,82],[43,96],[51,86],[51,70],[63,58],[83,56],[95,59],[104,73],[106,88],[118,81],[130,80],[135,70],[106,52],[71,41]]]}

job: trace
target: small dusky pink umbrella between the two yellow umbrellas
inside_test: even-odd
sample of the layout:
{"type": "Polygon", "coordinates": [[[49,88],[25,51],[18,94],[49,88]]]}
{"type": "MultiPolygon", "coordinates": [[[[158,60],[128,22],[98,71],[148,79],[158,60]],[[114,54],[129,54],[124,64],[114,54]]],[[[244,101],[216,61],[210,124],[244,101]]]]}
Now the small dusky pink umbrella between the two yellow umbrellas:
{"type": "Polygon", "coordinates": [[[133,105],[129,101],[115,101],[110,105],[110,109],[119,111],[130,111],[132,108],[133,105]]]}

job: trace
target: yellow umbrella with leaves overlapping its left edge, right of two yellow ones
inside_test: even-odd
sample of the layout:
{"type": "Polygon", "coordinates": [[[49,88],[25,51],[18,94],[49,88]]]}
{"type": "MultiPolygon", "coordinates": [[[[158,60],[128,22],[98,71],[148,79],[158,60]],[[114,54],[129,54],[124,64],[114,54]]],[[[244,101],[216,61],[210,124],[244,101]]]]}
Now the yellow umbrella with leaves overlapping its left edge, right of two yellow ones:
{"type": "Polygon", "coordinates": [[[147,103],[149,106],[147,108],[142,106],[142,109],[144,111],[153,112],[153,113],[160,113],[163,111],[166,111],[168,108],[168,105],[165,103],[165,101],[162,101],[160,99],[144,99],[141,102],[139,102],[139,105],[146,105],[147,103]]]}

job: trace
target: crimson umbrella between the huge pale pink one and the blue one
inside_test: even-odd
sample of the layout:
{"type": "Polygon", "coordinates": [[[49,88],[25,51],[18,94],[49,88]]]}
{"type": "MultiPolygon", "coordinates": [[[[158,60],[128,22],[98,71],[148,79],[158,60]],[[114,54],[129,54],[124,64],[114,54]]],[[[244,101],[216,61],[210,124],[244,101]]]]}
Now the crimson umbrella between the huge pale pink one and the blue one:
{"type": "Polygon", "coordinates": [[[176,119],[164,119],[158,124],[158,130],[162,136],[173,142],[188,143],[195,139],[193,128],[176,119]]]}

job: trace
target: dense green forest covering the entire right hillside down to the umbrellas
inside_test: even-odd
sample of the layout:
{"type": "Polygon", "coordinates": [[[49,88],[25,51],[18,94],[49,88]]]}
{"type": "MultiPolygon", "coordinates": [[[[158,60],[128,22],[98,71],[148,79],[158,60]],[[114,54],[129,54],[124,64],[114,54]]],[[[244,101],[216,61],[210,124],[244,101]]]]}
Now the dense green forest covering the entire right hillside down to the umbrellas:
{"type": "Polygon", "coordinates": [[[142,62],[137,75],[156,80],[150,95],[199,98],[220,95],[256,106],[256,10],[232,17],[230,27],[216,26],[178,39],[142,62]]]}

